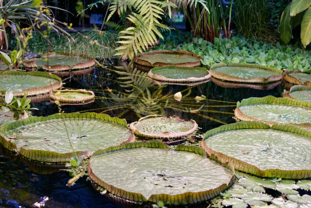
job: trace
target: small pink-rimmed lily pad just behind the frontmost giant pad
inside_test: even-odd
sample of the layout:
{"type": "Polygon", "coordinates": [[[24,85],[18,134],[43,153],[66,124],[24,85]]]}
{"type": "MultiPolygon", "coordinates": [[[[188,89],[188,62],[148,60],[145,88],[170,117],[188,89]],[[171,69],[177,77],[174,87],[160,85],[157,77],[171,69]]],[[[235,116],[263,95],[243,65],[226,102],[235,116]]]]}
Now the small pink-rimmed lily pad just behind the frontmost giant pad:
{"type": "Polygon", "coordinates": [[[185,121],[178,116],[150,115],[131,123],[134,134],[150,138],[178,138],[192,134],[197,129],[193,120],[185,121]]]}

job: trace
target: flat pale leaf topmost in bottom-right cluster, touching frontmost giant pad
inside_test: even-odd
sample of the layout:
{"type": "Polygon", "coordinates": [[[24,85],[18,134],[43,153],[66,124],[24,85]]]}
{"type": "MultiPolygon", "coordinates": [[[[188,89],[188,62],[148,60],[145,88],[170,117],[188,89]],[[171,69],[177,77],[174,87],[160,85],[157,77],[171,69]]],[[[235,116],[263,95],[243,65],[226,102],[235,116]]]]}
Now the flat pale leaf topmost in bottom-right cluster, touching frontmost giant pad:
{"type": "Polygon", "coordinates": [[[274,188],[275,184],[272,183],[270,180],[262,180],[255,176],[248,176],[240,178],[239,184],[244,186],[250,191],[258,191],[258,192],[265,192],[266,188],[274,188]]]}

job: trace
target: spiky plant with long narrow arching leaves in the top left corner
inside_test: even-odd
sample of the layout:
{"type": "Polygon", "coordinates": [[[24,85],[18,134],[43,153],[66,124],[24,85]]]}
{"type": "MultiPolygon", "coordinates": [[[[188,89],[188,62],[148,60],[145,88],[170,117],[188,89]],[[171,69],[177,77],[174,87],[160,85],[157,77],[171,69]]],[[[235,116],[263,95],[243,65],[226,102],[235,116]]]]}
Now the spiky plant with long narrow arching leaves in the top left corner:
{"type": "MultiPolygon", "coordinates": [[[[2,31],[2,39],[4,38],[7,49],[11,30],[14,31],[16,35],[18,41],[17,47],[19,49],[26,48],[27,41],[32,37],[32,31],[46,38],[46,31],[41,32],[39,30],[41,26],[46,26],[47,30],[54,30],[61,35],[70,37],[70,34],[59,25],[61,22],[55,20],[50,12],[51,8],[59,8],[42,6],[40,4],[41,0],[5,0],[0,2],[0,23],[2,30],[8,27],[7,30],[2,31]],[[21,25],[28,26],[28,28],[22,28],[21,25]],[[26,32],[28,32],[28,35],[26,32]]],[[[69,40],[68,37],[67,39],[69,40]]],[[[47,38],[46,40],[49,42],[47,38]]],[[[2,43],[4,41],[2,40],[2,43]]],[[[52,46],[50,50],[52,50],[52,46]]]]}

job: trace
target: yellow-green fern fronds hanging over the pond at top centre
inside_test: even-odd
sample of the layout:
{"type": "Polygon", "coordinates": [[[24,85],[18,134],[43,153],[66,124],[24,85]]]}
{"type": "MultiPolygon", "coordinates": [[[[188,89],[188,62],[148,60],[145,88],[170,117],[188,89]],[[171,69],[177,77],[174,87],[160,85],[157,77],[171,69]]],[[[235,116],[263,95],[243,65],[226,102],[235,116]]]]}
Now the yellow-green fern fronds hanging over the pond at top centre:
{"type": "Polygon", "coordinates": [[[98,4],[109,2],[109,15],[104,21],[109,21],[115,12],[119,16],[128,14],[127,19],[132,26],[119,32],[121,44],[116,48],[115,55],[122,56],[122,59],[129,57],[133,59],[134,53],[147,50],[149,45],[157,42],[157,36],[163,39],[162,31],[169,30],[169,27],[161,22],[167,15],[171,18],[172,9],[177,8],[176,4],[185,4],[189,7],[202,6],[208,11],[207,1],[205,0],[175,0],[174,2],[165,0],[100,0],[88,5],[88,8],[97,7],[98,4]],[[175,4],[176,3],[176,4],[175,4]],[[167,10],[167,12],[165,12],[167,10]]]}

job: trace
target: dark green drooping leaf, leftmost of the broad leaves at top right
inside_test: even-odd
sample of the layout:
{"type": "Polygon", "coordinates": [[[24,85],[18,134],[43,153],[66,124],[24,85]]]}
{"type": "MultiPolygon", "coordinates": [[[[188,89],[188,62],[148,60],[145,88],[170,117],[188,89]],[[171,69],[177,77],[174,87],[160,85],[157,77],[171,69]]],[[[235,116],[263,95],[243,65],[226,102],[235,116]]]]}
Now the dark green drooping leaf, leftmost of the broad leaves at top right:
{"type": "Polygon", "coordinates": [[[280,33],[280,39],[283,43],[288,44],[290,42],[290,39],[292,37],[292,31],[291,31],[291,16],[290,16],[290,7],[291,3],[285,7],[285,10],[281,17],[281,22],[279,25],[279,33],[280,33]]]}

